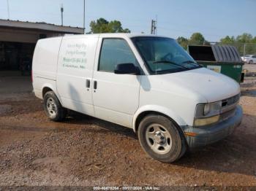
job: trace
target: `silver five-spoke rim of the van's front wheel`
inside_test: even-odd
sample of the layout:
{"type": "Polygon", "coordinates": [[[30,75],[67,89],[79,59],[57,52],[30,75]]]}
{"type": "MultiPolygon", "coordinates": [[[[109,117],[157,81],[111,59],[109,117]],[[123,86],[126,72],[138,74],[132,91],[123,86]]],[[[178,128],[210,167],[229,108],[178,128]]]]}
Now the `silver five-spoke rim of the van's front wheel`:
{"type": "Polygon", "coordinates": [[[149,125],[146,129],[148,146],[157,154],[164,155],[172,147],[172,139],[167,129],[159,124],[149,125]]]}

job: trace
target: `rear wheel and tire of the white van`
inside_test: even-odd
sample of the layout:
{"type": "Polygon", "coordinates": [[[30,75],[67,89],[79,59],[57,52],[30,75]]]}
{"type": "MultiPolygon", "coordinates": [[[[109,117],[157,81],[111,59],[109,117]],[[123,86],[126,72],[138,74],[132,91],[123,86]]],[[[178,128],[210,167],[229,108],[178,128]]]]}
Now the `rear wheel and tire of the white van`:
{"type": "Polygon", "coordinates": [[[44,96],[44,109],[47,116],[52,121],[63,121],[67,115],[67,109],[64,109],[59,102],[59,99],[53,93],[48,91],[44,96]]]}

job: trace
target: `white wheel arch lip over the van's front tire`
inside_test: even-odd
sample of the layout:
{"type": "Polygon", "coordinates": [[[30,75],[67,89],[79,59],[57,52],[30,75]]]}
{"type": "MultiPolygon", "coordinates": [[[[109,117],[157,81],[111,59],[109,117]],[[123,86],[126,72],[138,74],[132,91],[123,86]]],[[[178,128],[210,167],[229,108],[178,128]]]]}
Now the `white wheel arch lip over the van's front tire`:
{"type": "Polygon", "coordinates": [[[134,131],[136,131],[136,120],[138,118],[138,116],[140,114],[142,114],[143,112],[159,112],[162,114],[167,115],[168,117],[170,117],[172,120],[174,120],[179,126],[186,126],[186,122],[184,122],[184,120],[178,116],[176,114],[176,112],[173,112],[171,109],[168,109],[164,106],[157,106],[157,105],[146,105],[146,106],[141,106],[137,112],[135,112],[133,120],[132,120],[132,128],[134,131]]]}

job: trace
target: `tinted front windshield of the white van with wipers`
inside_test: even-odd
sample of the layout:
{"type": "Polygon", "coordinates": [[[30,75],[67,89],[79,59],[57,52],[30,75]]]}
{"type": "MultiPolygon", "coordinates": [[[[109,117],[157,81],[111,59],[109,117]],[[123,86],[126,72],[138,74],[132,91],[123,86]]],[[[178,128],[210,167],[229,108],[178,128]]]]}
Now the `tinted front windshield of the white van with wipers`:
{"type": "Polygon", "coordinates": [[[140,36],[132,38],[132,42],[151,74],[168,74],[201,67],[174,39],[140,36]]]}

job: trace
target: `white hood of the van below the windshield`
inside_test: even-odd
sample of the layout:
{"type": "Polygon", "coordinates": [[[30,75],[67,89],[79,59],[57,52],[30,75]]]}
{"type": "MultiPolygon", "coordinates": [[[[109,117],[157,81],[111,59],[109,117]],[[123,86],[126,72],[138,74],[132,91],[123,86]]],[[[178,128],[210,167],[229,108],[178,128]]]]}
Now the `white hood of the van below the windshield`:
{"type": "Polygon", "coordinates": [[[230,77],[200,68],[173,74],[158,75],[168,87],[184,87],[205,98],[208,103],[221,101],[240,93],[240,85],[230,77]]]}

